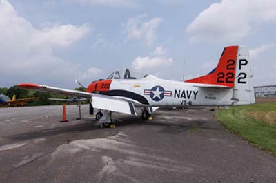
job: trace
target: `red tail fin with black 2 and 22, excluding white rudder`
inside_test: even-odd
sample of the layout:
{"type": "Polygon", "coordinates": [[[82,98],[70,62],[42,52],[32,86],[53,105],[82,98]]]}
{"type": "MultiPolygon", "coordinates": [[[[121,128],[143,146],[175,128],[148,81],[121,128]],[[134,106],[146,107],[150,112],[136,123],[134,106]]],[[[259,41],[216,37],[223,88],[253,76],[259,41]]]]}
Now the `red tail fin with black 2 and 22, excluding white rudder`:
{"type": "Polygon", "coordinates": [[[188,83],[202,83],[234,87],[238,46],[224,48],[217,67],[205,76],[186,80],[188,83]]]}

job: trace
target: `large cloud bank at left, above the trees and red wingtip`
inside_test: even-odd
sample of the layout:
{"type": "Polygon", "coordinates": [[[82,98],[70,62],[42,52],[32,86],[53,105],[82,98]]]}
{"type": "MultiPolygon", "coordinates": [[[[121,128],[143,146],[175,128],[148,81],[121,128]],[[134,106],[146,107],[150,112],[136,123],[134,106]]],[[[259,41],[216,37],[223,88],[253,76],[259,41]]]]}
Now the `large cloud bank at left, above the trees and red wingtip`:
{"type": "MultiPolygon", "coordinates": [[[[0,83],[51,83],[68,86],[81,76],[79,65],[55,56],[54,50],[68,47],[90,32],[87,24],[34,26],[6,0],[0,0],[0,83]]],[[[72,85],[71,85],[72,86],[72,85]]]]}

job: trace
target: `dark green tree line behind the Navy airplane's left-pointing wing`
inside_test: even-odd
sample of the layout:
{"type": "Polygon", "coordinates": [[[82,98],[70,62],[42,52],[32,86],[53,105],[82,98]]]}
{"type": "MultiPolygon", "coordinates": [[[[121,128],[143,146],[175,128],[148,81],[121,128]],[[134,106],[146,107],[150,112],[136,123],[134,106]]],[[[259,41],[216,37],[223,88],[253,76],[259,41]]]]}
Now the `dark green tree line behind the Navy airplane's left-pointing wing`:
{"type": "MultiPolygon", "coordinates": [[[[86,92],[86,89],[83,87],[75,88],[76,90],[86,92]]],[[[25,103],[26,106],[34,106],[34,105],[61,105],[62,101],[49,100],[49,98],[63,98],[68,99],[72,98],[72,96],[66,96],[63,94],[50,94],[44,92],[34,92],[32,90],[21,89],[14,85],[10,88],[2,87],[0,88],[0,94],[4,94],[10,98],[15,94],[17,99],[21,98],[30,98],[30,97],[39,97],[39,100],[34,100],[28,103],[25,103]]]]}

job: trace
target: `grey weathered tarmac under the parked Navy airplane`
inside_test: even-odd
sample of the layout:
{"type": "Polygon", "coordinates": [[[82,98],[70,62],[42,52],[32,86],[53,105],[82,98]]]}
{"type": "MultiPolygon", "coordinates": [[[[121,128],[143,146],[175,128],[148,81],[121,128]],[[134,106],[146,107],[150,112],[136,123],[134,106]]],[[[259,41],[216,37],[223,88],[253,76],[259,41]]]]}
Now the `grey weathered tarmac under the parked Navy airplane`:
{"type": "Polygon", "coordinates": [[[153,120],[88,105],[0,109],[0,182],[276,182],[276,158],[230,133],[209,108],[158,109],[153,120]]]}

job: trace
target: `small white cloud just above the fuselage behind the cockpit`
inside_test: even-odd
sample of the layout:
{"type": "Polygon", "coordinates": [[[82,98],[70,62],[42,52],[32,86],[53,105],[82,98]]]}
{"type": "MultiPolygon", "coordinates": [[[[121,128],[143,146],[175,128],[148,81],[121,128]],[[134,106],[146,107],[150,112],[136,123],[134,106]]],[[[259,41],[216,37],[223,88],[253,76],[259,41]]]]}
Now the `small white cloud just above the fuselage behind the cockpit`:
{"type": "Polygon", "coordinates": [[[162,67],[166,67],[173,63],[172,58],[160,58],[160,57],[153,57],[150,58],[148,56],[141,57],[138,56],[132,61],[132,68],[136,71],[152,71],[158,70],[162,67]]]}

